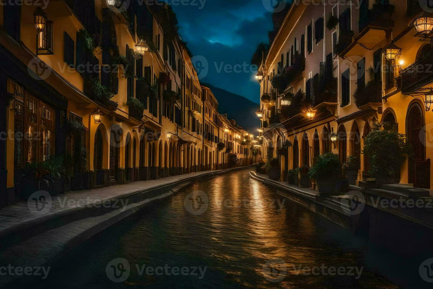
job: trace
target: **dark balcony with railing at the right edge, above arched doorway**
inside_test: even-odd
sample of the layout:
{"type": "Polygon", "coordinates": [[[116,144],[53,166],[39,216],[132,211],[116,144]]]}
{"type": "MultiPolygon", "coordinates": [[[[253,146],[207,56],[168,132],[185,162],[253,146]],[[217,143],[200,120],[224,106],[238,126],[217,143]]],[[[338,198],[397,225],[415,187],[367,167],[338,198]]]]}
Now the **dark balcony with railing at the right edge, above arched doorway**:
{"type": "Polygon", "coordinates": [[[419,59],[401,71],[401,92],[410,93],[433,81],[433,55],[419,59]]]}

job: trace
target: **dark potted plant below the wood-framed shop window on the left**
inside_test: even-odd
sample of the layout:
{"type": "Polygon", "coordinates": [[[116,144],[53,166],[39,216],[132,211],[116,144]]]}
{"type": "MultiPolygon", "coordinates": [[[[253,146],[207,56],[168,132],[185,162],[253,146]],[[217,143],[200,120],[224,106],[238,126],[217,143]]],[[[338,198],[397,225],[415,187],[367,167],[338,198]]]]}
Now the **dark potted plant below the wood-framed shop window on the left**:
{"type": "Polygon", "coordinates": [[[63,156],[50,156],[43,162],[28,163],[23,170],[23,198],[28,199],[37,191],[63,192],[65,187],[63,156]]]}

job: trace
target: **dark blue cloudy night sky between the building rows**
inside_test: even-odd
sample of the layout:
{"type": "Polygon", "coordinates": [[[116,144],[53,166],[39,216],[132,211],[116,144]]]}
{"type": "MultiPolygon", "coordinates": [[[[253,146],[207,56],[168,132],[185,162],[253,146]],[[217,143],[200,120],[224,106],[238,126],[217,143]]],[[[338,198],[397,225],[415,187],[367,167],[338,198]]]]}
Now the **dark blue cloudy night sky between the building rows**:
{"type": "Polygon", "coordinates": [[[200,0],[165,0],[172,3],[178,17],[179,34],[188,42],[194,56],[193,64],[202,68],[197,69],[200,82],[259,103],[259,82],[254,78],[255,72],[249,71],[252,70],[250,60],[256,45],[262,41],[268,43],[268,31],[272,30],[271,12],[263,1],[201,0],[200,3],[200,0]],[[233,70],[237,65],[240,72],[230,72],[224,67],[227,64],[231,66],[226,68],[233,66],[233,70]]]}

